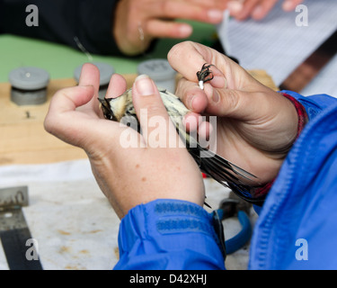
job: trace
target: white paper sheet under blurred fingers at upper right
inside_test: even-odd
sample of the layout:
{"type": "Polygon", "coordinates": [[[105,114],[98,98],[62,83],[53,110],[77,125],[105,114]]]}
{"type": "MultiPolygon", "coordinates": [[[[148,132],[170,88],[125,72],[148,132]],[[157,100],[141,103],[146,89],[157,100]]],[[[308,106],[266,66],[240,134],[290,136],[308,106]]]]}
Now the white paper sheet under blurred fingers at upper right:
{"type": "MultiPolygon", "coordinates": [[[[337,29],[335,0],[304,1],[308,11],[307,26],[298,26],[296,23],[300,22],[303,11],[285,13],[280,6],[282,2],[279,1],[260,22],[237,22],[231,19],[226,29],[223,25],[218,26],[220,40],[228,39],[228,54],[238,58],[240,65],[246,69],[266,70],[276,85],[280,85],[337,29]]],[[[336,73],[330,75],[336,70],[337,62],[334,61],[320,73],[315,82],[306,87],[303,94],[320,91],[319,93],[337,95],[336,80],[331,83],[330,79],[326,79],[336,79],[336,73]]]]}

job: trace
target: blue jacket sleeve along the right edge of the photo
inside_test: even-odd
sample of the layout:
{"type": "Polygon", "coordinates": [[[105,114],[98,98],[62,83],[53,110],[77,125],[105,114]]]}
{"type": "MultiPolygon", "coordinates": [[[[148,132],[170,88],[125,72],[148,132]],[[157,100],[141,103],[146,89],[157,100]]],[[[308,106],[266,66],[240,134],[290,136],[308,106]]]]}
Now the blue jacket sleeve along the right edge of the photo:
{"type": "Polygon", "coordinates": [[[283,162],[254,226],[250,269],[336,269],[337,99],[303,97],[306,128],[283,162]]]}

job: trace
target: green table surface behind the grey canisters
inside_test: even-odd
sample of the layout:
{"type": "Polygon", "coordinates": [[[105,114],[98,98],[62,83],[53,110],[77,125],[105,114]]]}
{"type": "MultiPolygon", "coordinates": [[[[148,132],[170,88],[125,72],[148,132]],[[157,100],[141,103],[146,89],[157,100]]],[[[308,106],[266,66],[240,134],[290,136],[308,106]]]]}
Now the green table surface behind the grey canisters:
{"type": "MultiPolygon", "coordinates": [[[[190,23],[193,26],[193,33],[187,40],[211,45],[217,39],[213,25],[190,23]]],[[[92,55],[93,59],[90,60],[83,52],[65,45],[2,34],[0,35],[0,83],[8,82],[9,72],[22,66],[44,68],[49,72],[51,79],[70,78],[74,76],[75,67],[91,61],[108,63],[119,74],[133,74],[137,73],[138,63],[148,58],[166,58],[167,52],[180,41],[182,40],[158,40],[151,53],[137,58],[92,55]]]]}

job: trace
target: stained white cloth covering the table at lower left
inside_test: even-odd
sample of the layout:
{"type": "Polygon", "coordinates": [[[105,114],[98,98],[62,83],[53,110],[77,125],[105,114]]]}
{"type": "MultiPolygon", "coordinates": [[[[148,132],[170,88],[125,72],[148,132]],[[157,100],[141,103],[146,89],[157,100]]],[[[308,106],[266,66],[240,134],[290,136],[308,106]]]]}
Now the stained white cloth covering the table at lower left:
{"type": "MultiPolygon", "coordinates": [[[[32,238],[38,241],[43,269],[110,270],[115,266],[120,220],[96,184],[87,159],[0,166],[0,188],[21,185],[29,189],[29,205],[22,210],[32,238]]],[[[217,209],[228,190],[212,179],[205,180],[205,187],[208,204],[217,209]]],[[[241,229],[235,218],[225,220],[224,227],[226,238],[241,229]]],[[[246,269],[248,253],[247,246],[228,256],[227,268],[246,269]]],[[[0,269],[8,269],[2,246],[0,269]]]]}

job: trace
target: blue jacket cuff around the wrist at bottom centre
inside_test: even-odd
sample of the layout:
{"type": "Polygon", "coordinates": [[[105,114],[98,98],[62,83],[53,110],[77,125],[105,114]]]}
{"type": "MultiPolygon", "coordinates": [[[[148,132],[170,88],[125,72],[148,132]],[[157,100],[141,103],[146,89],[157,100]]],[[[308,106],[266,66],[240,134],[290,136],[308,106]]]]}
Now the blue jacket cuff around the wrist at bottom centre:
{"type": "Polygon", "coordinates": [[[197,204],[155,200],[120,222],[116,270],[225,269],[211,214],[197,204]]]}

